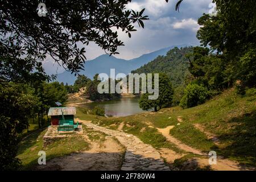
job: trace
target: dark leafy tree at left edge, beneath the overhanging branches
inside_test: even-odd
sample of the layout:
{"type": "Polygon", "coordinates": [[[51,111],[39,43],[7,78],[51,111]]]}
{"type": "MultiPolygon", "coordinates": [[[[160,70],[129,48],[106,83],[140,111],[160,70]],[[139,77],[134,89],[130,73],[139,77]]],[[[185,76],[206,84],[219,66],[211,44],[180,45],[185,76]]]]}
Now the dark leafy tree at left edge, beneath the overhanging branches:
{"type": "Polygon", "coordinates": [[[20,167],[17,153],[18,134],[28,127],[38,100],[24,92],[20,85],[3,87],[0,85],[0,170],[11,170],[20,167]]]}

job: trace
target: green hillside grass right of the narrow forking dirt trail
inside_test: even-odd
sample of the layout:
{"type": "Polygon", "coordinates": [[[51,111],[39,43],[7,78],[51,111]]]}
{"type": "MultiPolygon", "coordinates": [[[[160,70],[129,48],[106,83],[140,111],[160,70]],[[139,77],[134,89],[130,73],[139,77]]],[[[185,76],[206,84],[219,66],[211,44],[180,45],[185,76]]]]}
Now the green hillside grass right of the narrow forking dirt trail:
{"type": "Polygon", "coordinates": [[[216,150],[218,155],[256,166],[255,100],[255,94],[241,97],[233,90],[226,90],[203,105],[179,111],[184,122],[170,133],[200,150],[216,150]],[[204,133],[193,127],[193,123],[200,123],[206,131],[216,135],[220,146],[216,147],[204,133]]]}

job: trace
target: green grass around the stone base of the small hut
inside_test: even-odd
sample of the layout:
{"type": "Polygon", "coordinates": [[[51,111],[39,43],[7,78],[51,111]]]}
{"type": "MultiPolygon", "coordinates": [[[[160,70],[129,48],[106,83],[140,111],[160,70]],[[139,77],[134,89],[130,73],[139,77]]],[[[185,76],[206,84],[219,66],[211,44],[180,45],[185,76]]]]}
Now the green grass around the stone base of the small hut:
{"type": "Polygon", "coordinates": [[[68,138],[61,138],[43,148],[45,133],[46,130],[35,132],[19,143],[17,157],[22,161],[22,170],[30,170],[38,165],[39,151],[45,151],[46,160],[50,160],[89,148],[89,143],[76,134],[68,138]]]}

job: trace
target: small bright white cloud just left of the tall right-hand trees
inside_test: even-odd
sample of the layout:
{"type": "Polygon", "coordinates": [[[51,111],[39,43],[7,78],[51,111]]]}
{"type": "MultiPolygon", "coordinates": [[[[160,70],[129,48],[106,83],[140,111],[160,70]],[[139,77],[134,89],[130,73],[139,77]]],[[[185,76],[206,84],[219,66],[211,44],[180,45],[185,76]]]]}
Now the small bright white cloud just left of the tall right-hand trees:
{"type": "Polygon", "coordinates": [[[200,28],[199,24],[197,24],[197,21],[192,18],[183,19],[180,22],[176,22],[172,24],[172,27],[174,29],[191,29],[193,31],[197,31],[200,28]]]}

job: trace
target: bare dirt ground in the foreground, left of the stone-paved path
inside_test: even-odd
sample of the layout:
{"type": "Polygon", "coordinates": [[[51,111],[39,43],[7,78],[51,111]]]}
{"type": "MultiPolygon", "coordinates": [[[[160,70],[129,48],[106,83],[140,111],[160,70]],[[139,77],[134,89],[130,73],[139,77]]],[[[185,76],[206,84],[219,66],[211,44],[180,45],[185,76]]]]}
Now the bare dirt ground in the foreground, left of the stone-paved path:
{"type": "Polygon", "coordinates": [[[103,143],[91,143],[89,150],[52,159],[47,162],[46,166],[39,166],[37,169],[61,171],[119,170],[122,164],[122,150],[123,148],[113,137],[108,137],[103,143]]]}

